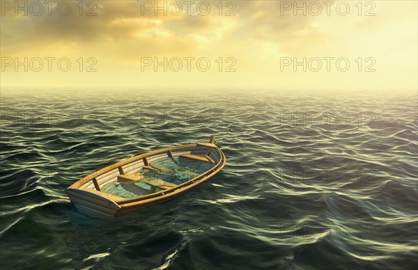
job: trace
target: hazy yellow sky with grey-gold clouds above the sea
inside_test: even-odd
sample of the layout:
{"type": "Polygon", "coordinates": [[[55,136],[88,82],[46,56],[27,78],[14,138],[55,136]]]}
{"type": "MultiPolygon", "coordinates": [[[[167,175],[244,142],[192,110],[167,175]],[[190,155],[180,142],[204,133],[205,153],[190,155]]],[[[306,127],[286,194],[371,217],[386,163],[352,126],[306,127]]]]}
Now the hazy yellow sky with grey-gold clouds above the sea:
{"type": "Polygon", "coordinates": [[[1,88],[417,90],[418,1],[1,1],[1,88]]]}

